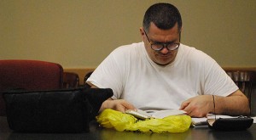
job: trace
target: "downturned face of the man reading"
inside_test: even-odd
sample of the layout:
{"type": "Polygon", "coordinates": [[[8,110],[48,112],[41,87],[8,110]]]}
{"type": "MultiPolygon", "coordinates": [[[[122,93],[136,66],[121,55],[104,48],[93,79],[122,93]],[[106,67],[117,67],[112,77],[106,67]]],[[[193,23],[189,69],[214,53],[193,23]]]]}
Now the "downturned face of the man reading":
{"type": "Polygon", "coordinates": [[[177,55],[177,49],[170,51],[165,47],[160,51],[155,51],[151,48],[151,44],[166,42],[178,43],[180,31],[178,31],[177,24],[174,25],[172,29],[161,30],[156,25],[154,25],[154,23],[151,23],[147,33],[144,32],[143,28],[141,28],[140,31],[141,35],[143,36],[143,42],[145,44],[148,56],[154,61],[154,63],[166,65],[171,64],[174,61],[177,55]],[[148,40],[151,42],[151,44],[148,42],[148,40]]]}

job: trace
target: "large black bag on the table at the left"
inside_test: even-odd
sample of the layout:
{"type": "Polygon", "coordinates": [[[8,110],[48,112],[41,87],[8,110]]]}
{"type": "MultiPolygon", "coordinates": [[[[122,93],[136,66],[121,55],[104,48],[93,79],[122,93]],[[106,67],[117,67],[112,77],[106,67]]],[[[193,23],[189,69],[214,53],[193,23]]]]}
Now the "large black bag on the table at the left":
{"type": "Polygon", "coordinates": [[[7,120],[15,132],[89,132],[111,89],[84,88],[4,92],[7,120]]]}

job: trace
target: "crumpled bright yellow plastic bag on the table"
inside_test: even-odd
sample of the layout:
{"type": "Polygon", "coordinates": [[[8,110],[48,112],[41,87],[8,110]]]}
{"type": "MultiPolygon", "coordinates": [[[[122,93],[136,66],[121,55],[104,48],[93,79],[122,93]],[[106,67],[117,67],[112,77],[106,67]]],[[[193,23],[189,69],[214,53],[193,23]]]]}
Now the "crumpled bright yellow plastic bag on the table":
{"type": "Polygon", "coordinates": [[[96,116],[102,127],[114,128],[119,132],[186,132],[191,124],[189,115],[170,115],[163,119],[137,120],[132,115],[123,114],[113,109],[105,109],[96,116]]]}

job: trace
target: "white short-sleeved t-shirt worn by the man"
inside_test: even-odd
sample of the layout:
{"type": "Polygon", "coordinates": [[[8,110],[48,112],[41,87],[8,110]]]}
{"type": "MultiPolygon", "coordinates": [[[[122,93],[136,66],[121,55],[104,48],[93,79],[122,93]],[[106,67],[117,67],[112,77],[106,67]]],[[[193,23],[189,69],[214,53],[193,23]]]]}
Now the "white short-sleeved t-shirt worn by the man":
{"type": "Polygon", "coordinates": [[[116,48],[88,81],[112,88],[113,99],[125,99],[137,109],[179,109],[188,98],[228,96],[238,89],[215,60],[183,44],[166,66],[149,58],[143,42],[116,48]]]}

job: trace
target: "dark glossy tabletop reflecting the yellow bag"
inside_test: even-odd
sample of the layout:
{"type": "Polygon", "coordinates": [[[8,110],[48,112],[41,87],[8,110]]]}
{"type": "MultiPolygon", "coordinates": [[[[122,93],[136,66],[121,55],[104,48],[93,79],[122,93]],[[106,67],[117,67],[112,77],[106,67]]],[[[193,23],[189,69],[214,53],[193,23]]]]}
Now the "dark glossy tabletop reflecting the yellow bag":
{"type": "Polygon", "coordinates": [[[117,132],[113,129],[99,127],[96,121],[90,122],[90,132],[84,133],[19,133],[9,129],[6,117],[0,116],[0,139],[1,140],[131,140],[131,139],[156,139],[156,140],[197,140],[197,139],[232,139],[253,140],[256,139],[256,124],[246,131],[240,132],[217,132],[204,127],[191,127],[183,133],[142,133],[142,132],[117,132]]]}

